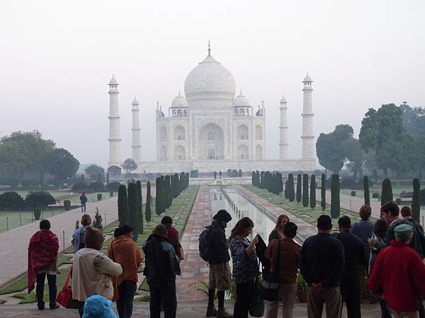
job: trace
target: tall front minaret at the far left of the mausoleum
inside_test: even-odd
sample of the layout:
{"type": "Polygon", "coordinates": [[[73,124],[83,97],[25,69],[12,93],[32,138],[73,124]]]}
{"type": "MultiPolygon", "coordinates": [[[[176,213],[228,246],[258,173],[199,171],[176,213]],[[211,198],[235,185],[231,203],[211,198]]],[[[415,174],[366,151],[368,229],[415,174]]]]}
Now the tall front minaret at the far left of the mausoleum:
{"type": "Polygon", "coordinates": [[[121,139],[120,139],[120,111],[118,109],[118,82],[112,76],[109,81],[109,162],[111,165],[120,165],[121,139]]]}

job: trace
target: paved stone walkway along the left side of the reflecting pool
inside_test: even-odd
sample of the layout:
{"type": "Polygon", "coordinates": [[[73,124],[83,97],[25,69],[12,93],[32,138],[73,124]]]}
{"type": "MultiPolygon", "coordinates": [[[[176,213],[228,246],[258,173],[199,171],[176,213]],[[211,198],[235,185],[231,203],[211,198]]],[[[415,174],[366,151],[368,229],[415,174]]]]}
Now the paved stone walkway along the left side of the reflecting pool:
{"type": "Polygon", "coordinates": [[[210,192],[208,186],[200,186],[193,204],[191,215],[181,237],[185,259],[181,261],[181,276],[177,276],[177,298],[181,300],[205,300],[205,293],[199,281],[208,283],[207,262],[199,256],[199,235],[205,226],[210,225],[210,192]]]}

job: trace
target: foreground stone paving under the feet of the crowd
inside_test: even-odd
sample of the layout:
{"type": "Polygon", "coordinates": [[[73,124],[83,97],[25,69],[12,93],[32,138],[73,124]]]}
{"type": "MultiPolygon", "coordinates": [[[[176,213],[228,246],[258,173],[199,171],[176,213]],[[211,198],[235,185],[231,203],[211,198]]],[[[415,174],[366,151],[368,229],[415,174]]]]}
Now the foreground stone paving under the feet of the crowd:
{"type": "MultiPolygon", "coordinates": [[[[233,302],[226,300],[225,306],[227,311],[233,312],[233,302]]],[[[37,310],[35,304],[30,305],[0,305],[2,318],[32,318],[32,317],[50,317],[50,318],[77,318],[79,314],[77,310],[65,310],[63,308],[57,310],[37,310]]],[[[205,317],[206,303],[205,301],[187,301],[179,302],[177,305],[177,318],[200,318],[205,317]]],[[[281,310],[281,309],[280,309],[281,310]]],[[[115,310],[116,311],[116,310],[115,310]]],[[[282,312],[279,312],[278,317],[281,317],[282,312]]],[[[133,307],[133,317],[148,317],[149,302],[135,302],[133,307]]],[[[324,314],[322,317],[325,317],[324,314]]],[[[162,316],[164,317],[164,316],[162,316]]],[[[249,316],[251,318],[251,316],[249,316]]],[[[307,305],[305,303],[295,303],[294,318],[307,317],[307,305]]],[[[344,307],[343,318],[346,318],[346,310],[344,307]]],[[[377,318],[380,317],[379,305],[361,305],[361,317],[377,318]]]]}

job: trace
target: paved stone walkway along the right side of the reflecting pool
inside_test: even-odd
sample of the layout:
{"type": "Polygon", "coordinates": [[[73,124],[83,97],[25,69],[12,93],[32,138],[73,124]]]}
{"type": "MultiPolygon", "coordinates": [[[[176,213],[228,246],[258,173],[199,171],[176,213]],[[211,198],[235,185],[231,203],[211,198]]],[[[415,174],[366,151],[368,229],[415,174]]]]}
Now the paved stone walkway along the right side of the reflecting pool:
{"type": "Polygon", "coordinates": [[[250,201],[251,204],[254,204],[256,208],[259,208],[264,213],[266,213],[266,215],[270,216],[271,219],[275,221],[278,220],[278,217],[280,216],[280,214],[286,214],[287,216],[289,216],[290,220],[296,223],[298,226],[297,238],[300,241],[303,242],[307,237],[317,234],[317,229],[314,228],[314,226],[310,225],[309,223],[305,222],[305,220],[302,220],[298,218],[297,216],[294,216],[292,213],[283,210],[283,208],[280,208],[279,206],[272,204],[270,201],[261,198],[261,196],[254,194],[253,192],[250,192],[244,187],[235,185],[233,186],[233,188],[237,192],[239,192],[239,194],[244,196],[248,201],[250,201]]]}

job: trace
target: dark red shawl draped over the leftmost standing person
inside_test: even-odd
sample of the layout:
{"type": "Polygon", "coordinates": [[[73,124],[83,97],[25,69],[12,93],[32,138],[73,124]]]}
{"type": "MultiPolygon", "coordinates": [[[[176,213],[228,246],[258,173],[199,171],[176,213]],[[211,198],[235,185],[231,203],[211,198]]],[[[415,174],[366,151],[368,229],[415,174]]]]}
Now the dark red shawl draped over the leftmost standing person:
{"type": "Polygon", "coordinates": [[[35,232],[28,245],[28,293],[34,289],[35,279],[42,266],[57,259],[59,240],[50,230],[35,232]]]}

